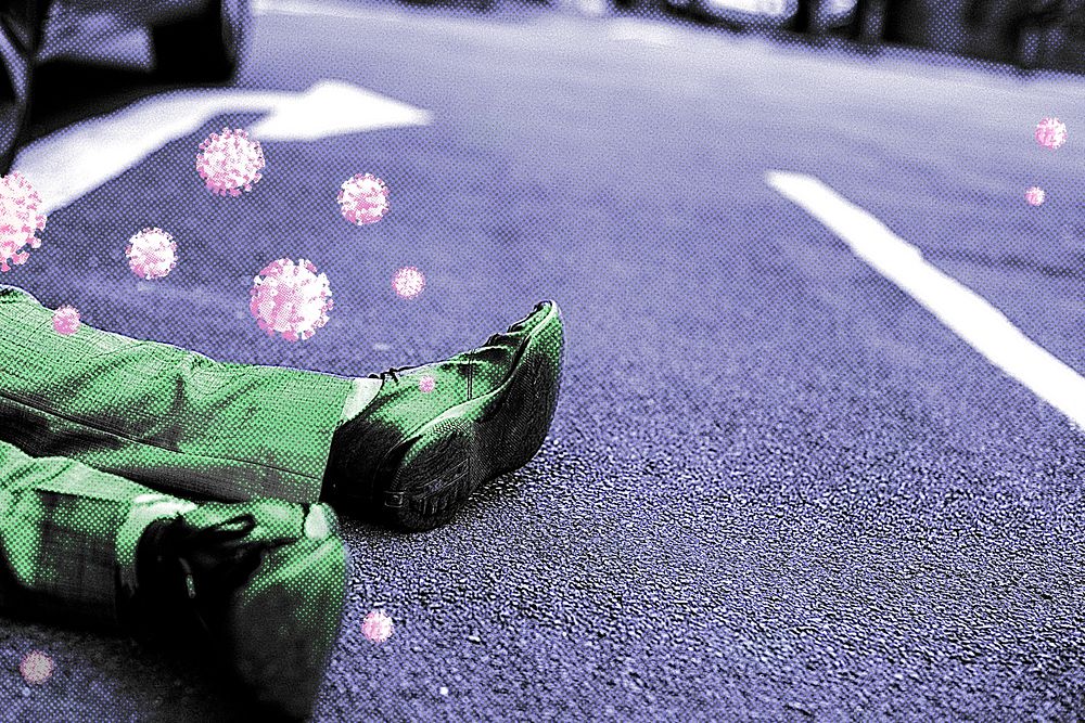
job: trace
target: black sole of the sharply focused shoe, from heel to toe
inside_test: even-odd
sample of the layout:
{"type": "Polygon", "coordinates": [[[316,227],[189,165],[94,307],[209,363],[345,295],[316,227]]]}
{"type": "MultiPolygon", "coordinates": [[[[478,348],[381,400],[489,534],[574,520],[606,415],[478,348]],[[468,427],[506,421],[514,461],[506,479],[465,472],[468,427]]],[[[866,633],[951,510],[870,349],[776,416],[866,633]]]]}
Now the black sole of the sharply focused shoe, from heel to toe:
{"type": "Polygon", "coordinates": [[[519,469],[541,449],[564,358],[561,311],[549,306],[500,387],[449,409],[390,452],[378,472],[379,480],[390,481],[378,489],[385,490],[383,509],[393,522],[414,531],[437,527],[480,486],[519,469]]]}

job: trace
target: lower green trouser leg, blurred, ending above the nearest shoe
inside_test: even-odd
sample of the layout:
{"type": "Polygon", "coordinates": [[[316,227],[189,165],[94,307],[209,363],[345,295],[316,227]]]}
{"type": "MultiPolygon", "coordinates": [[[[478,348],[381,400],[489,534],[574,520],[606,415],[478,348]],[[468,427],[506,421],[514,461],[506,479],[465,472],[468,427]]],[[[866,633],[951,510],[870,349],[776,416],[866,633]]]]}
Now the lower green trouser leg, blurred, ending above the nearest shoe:
{"type": "Polygon", "coordinates": [[[123,625],[143,530],[194,507],[0,441],[0,609],[123,625]]]}

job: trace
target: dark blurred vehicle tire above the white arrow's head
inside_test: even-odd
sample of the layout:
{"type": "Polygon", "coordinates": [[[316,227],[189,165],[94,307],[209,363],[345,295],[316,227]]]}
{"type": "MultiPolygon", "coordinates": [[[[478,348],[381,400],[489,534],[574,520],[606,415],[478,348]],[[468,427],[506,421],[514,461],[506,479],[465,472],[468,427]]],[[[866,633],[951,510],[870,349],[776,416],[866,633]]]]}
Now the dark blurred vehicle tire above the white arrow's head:
{"type": "Polygon", "coordinates": [[[248,0],[212,0],[206,11],[151,28],[155,73],[171,82],[227,82],[244,59],[248,0]]]}

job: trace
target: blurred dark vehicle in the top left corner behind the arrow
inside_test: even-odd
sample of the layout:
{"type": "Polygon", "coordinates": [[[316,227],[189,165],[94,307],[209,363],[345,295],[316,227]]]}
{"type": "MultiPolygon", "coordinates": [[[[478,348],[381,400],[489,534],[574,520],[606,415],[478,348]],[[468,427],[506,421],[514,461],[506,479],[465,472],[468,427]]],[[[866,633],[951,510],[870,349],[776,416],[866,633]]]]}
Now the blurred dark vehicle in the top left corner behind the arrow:
{"type": "Polygon", "coordinates": [[[23,140],[35,67],[101,62],[111,38],[141,30],[155,79],[226,82],[248,25],[248,0],[0,0],[0,173],[23,140]]]}

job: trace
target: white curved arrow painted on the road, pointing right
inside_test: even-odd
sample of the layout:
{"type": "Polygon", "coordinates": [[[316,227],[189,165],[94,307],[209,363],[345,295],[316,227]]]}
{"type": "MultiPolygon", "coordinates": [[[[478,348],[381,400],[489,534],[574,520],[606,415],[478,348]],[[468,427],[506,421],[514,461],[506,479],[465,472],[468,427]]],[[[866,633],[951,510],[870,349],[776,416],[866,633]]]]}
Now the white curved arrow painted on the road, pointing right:
{"type": "MultiPolygon", "coordinates": [[[[265,141],[312,141],[379,128],[424,126],[427,111],[347,82],[322,80],[304,93],[184,90],[139,101],[38,139],[15,158],[44,212],[63,208],[224,113],[268,115],[248,129],[265,141]]],[[[195,173],[193,147],[192,172],[195,173]]]]}

